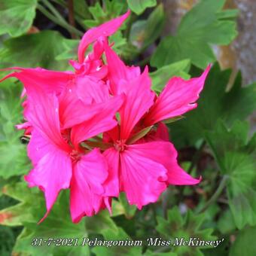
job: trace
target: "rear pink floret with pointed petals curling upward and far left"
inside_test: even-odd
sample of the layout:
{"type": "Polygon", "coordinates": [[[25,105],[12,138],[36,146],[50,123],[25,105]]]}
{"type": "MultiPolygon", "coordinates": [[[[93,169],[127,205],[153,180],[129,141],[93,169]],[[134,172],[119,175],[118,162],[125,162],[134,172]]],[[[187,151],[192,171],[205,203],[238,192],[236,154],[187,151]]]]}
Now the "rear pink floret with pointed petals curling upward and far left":
{"type": "MultiPolygon", "coordinates": [[[[130,11],[127,11],[123,16],[117,17],[114,20],[110,20],[107,23],[93,29],[89,29],[81,39],[81,43],[78,47],[78,60],[70,60],[70,64],[74,67],[75,72],[57,72],[47,69],[35,68],[24,69],[20,67],[13,67],[4,70],[15,70],[15,72],[5,76],[0,80],[4,81],[7,78],[19,79],[24,87],[22,96],[26,94],[26,87],[33,85],[40,87],[46,93],[56,93],[56,96],[61,96],[63,90],[72,90],[72,96],[75,98],[87,97],[81,95],[84,87],[93,87],[87,84],[88,80],[93,80],[94,84],[105,78],[108,74],[108,69],[102,62],[102,53],[104,51],[104,41],[109,35],[114,34],[117,29],[122,25],[123,21],[129,17],[130,11]],[[87,47],[93,42],[93,52],[87,55],[84,59],[84,53],[87,47]]],[[[108,90],[108,87],[104,86],[103,90],[108,90]]],[[[98,88],[99,89],[99,88],[98,88]]],[[[99,93],[99,90],[97,90],[99,93]]],[[[90,93],[90,90],[86,90],[86,93],[90,93]]],[[[70,96],[69,96],[70,98],[70,96]]],[[[90,98],[90,97],[89,97],[90,98]]],[[[26,102],[23,105],[26,111],[26,102]]]]}

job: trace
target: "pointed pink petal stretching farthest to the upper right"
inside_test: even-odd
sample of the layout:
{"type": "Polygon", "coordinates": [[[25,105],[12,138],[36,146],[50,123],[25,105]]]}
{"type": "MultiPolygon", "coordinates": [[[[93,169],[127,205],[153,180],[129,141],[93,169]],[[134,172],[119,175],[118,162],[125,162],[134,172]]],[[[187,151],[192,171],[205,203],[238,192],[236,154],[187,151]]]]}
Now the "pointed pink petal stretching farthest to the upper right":
{"type": "Polygon", "coordinates": [[[210,68],[211,66],[208,66],[199,78],[191,78],[188,81],[176,77],[170,79],[145,117],[145,125],[151,126],[160,120],[177,117],[193,108],[197,108],[195,102],[199,98],[201,90],[203,90],[210,68]]]}

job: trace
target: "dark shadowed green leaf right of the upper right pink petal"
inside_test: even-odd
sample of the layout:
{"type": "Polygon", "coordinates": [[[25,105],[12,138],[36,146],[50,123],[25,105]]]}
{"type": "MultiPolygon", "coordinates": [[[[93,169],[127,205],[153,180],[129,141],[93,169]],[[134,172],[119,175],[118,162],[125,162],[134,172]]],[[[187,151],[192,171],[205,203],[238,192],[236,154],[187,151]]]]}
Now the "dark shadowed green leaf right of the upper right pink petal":
{"type": "MultiPolygon", "coordinates": [[[[199,73],[192,75],[198,76],[199,73]]],[[[196,109],[184,114],[186,118],[170,125],[173,142],[178,148],[194,145],[203,139],[205,130],[213,130],[221,118],[231,126],[235,120],[243,120],[256,108],[256,84],[242,87],[241,74],[229,92],[226,92],[230,71],[221,71],[216,63],[209,72],[200,93],[196,109]]]]}

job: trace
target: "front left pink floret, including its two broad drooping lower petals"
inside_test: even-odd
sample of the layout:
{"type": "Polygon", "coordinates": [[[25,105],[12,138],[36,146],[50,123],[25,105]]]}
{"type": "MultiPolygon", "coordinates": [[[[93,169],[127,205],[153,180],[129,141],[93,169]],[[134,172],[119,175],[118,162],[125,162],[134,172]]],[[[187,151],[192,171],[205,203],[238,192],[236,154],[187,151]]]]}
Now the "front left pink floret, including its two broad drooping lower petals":
{"type": "MultiPolygon", "coordinates": [[[[63,114],[59,109],[61,99],[54,93],[44,93],[35,87],[28,87],[27,91],[30,97],[26,119],[33,127],[28,154],[34,169],[25,179],[30,187],[38,186],[44,191],[47,205],[44,218],[59,191],[69,187],[72,221],[78,222],[84,215],[99,212],[105,207],[102,184],[108,177],[108,166],[98,148],[88,151],[81,147],[80,142],[116,125],[113,117],[123,102],[122,97],[100,104],[98,111],[91,116],[84,115],[84,120],[73,119],[72,128],[69,128],[66,122],[60,122],[63,114]]],[[[73,116],[77,116],[76,112],[87,111],[87,105],[76,103],[72,107],[69,105],[73,116]]]]}

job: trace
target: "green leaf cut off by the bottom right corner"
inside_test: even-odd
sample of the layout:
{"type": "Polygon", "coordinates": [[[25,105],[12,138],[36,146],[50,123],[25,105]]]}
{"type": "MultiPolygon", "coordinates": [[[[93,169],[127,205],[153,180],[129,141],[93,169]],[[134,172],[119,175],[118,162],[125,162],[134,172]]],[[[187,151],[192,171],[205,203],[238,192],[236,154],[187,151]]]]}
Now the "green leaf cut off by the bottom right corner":
{"type": "Polygon", "coordinates": [[[230,248],[230,256],[253,256],[256,251],[256,227],[247,227],[236,236],[235,242],[230,248]]]}

